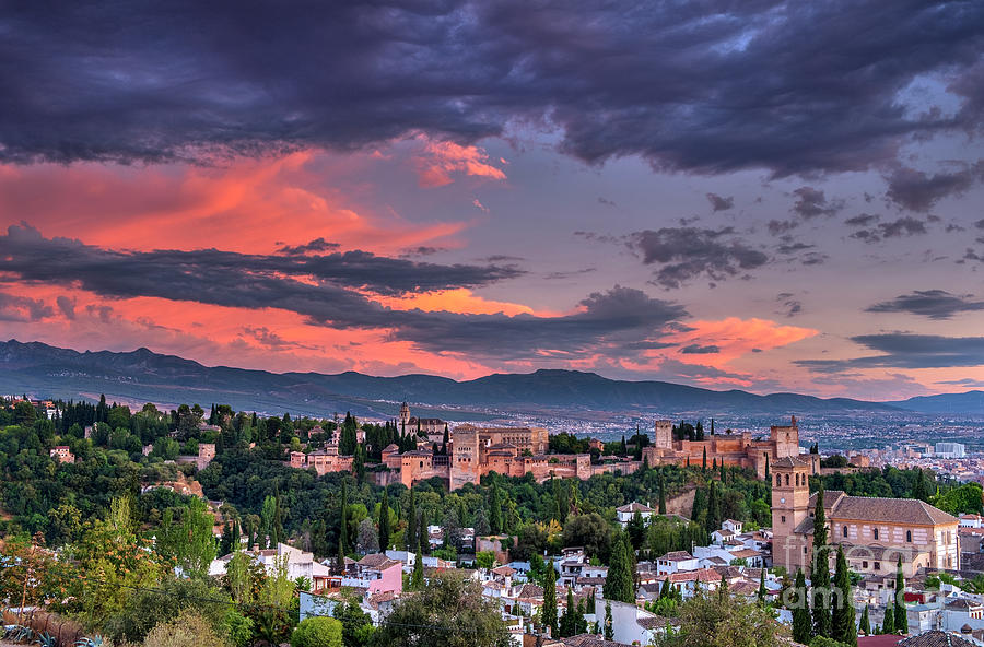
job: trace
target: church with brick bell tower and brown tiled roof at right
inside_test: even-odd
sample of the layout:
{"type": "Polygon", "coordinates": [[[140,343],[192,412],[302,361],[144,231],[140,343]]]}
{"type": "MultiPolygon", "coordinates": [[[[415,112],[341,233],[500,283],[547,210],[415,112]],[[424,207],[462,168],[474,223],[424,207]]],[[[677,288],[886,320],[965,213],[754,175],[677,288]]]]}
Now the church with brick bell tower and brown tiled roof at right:
{"type": "MultiPolygon", "coordinates": [[[[812,562],[811,456],[790,456],[772,464],[772,562],[790,574],[812,562]]],[[[915,498],[848,496],[823,492],[828,543],[844,549],[852,570],[866,577],[894,576],[899,558],[906,577],[921,568],[958,569],[958,519],[915,498]]],[[[831,551],[833,560],[834,551],[831,551]]]]}

